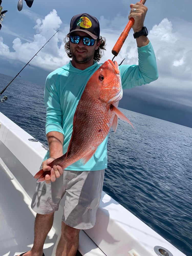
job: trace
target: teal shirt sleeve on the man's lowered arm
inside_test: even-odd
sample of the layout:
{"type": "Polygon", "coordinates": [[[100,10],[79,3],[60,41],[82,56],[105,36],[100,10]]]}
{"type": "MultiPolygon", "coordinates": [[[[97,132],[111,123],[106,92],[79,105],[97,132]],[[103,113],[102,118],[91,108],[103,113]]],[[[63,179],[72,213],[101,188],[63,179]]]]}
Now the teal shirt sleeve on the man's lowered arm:
{"type": "Polygon", "coordinates": [[[45,82],[44,100],[46,108],[46,134],[56,131],[65,135],[62,128],[62,111],[58,88],[51,73],[47,76],[45,82]]]}

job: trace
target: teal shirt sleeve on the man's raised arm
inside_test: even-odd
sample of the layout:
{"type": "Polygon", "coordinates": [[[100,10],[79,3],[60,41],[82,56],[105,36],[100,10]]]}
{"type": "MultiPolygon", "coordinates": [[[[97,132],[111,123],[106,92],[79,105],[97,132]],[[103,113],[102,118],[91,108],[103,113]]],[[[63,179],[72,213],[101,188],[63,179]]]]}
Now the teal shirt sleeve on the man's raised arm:
{"type": "Polygon", "coordinates": [[[120,65],[120,75],[123,89],[141,86],[158,79],[157,63],[151,42],[143,47],[137,47],[138,65],[120,65]]]}

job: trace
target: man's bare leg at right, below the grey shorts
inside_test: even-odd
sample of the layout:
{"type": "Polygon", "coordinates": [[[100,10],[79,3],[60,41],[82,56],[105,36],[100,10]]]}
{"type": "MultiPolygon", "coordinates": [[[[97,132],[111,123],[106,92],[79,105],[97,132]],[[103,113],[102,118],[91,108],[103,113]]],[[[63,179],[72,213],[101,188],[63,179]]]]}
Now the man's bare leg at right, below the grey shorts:
{"type": "Polygon", "coordinates": [[[61,238],[59,240],[56,256],[75,256],[79,244],[80,229],[72,228],[62,221],[61,238]]]}

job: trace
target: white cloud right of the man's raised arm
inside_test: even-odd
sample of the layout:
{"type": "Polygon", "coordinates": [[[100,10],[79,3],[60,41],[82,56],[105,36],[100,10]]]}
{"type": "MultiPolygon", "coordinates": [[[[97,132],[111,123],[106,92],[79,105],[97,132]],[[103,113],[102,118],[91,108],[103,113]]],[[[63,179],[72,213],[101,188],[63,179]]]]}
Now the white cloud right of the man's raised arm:
{"type": "Polygon", "coordinates": [[[180,80],[178,83],[182,80],[191,81],[191,36],[173,32],[172,23],[165,18],[150,30],[149,38],[155,49],[159,74],[164,78],[177,78],[180,80]]]}

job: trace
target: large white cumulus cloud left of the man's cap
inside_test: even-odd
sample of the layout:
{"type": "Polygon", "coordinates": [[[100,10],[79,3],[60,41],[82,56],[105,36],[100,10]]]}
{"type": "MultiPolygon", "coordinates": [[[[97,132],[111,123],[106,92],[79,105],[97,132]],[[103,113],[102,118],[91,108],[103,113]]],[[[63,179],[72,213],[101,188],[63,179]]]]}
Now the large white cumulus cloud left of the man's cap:
{"type": "MultiPolygon", "coordinates": [[[[37,19],[34,29],[36,33],[31,42],[23,42],[20,38],[13,40],[13,49],[4,44],[3,38],[0,37],[0,55],[8,59],[15,59],[27,63],[36,52],[53,36],[59,29],[62,21],[58,17],[56,10],[50,12],[44,19],[37,19]]],[[[59,32],[58,32],[59,33],[59,32]]],[[[58,33],[46,44],[38,55],[30,62],[30,65],[52,71],[67,62],[67,56],[64,52],[64,42],[60,42],[58,33]]]]}

